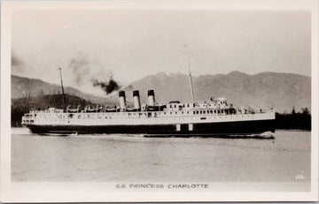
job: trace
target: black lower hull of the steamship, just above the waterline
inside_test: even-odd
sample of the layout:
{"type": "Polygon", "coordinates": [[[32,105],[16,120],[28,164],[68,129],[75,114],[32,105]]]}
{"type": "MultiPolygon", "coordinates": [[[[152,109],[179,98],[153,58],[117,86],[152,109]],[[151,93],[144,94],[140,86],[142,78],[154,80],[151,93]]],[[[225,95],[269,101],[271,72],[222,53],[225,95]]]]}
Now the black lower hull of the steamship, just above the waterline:
{"type": "Polygon", "coordinates": [[[240,122],[220,122],[193,124],[192,131],[189,125],[104,125],[104,126],[78,126],[78,125],[27,125],[34,133],[116,133],[116,134],[145,134],[153,136],[213,136],[213,135],[245,135],[262,132],[275,132],[275,120],[253,120],[240,122]]]}

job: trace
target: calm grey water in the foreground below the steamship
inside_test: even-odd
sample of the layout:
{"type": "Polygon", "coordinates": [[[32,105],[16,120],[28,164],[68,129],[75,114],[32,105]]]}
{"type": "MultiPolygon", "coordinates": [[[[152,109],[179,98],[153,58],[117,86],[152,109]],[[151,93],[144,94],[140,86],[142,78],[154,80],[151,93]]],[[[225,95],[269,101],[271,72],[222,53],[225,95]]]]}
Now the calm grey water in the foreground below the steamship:
{"type": "Polygon", "coordinates": [[[275,140],[39,136],[12,128],[12,181],[310,180],[310,132],[275,140]]]}

